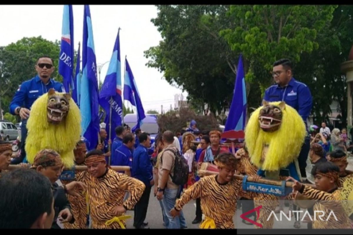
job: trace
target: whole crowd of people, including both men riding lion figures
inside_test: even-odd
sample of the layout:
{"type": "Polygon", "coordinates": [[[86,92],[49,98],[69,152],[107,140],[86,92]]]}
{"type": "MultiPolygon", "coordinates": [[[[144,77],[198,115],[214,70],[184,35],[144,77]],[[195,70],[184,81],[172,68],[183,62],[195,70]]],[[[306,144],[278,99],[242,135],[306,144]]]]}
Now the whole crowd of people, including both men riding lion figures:
{"type": "MultiPolygon", "coordinates": [[[[49,88],[62,91],[62,85],[50,79],[54,70],[51,58],[40,57],[36,70],[38,75],[19,87],[10,105],[11,112],[23,120],[23,146],[31,105],[49,88]]],[[[292,75],[289,60],[276,61],[276,85],[265,91],[264,100],[285,101],[306,124],[311,94],[292,75]]],[[[347,151],[351,148],[347,130],[330,131],[322,123],[319,133],[316,131],[305,137],[298,156],[301,180],[282,175],[294,182],[294,193],[288,198],[295,200],[301,194],[315,201],[310,213],[333,210],[339,219],[314,221],[308,223],[309,228],[352,228],[352,208],[340,203],[343,186],[353,184],[353,174],[347,170],[347,151]],[[312,182],[306,179],[308,156],[315,185],[309,185],[312,182]]],[[[164,228],[187,228],[183,206],[190,200],[196,200],[195,219],[191,223],[200,223],[201,228],[234,228],[233,216],[239,209],[239,199],[252,202],[267,198],[266,194],[242,189],[243,181],[234,177],[236,172],[249,175],[254,181],[261,179],[263,172],[250,161],[246,143],[234,153],[223,144],[219,130],[200,131],[196,121],[191,120],[190,126],[178,133],[159,133],[151,155],[150,134],[140,129],[132,133],[125,124],[116,127],[115,134],[114,140],[108,140],[106,130],[101,129],[101,140],[90,151],[87,149],[92,143],[79,141],[73,149],[74,169],[66,169],[55,150],[42,149],[34,162],[20,163],[14,170],[10,163],[25,159],[24,147],[19,159],[11,161],[11,144],[0,140],[0,228],[126,228],[130,216],[125,213],[133,210],[134,228],[145,229],[149,228],[145,219],[152,190],[161,206],[164,228]],[[217,169],[215,174],[198,174],[205,163],[217,169]],[[114,166],[129,170],[115,171],[114,166]]],[[[254,203],[242,203],[241,207],[247,211],[254,203]]],[[[298,221],[297,216],[296,228],[298,221]]],[[[273,222],[263,226],[272,228],[273,222]]]]}

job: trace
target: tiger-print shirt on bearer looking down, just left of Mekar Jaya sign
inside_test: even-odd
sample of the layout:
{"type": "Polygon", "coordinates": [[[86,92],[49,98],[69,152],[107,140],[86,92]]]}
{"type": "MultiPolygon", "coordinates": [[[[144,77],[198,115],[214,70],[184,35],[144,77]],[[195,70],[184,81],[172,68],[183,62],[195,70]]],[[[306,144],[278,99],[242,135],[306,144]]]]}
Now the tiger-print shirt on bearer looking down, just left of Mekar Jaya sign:
{"type": "Polygon", "coordinates": [[[201,198],[201,210],[205,216],[214,219],[216,228],[234,228],[233,216],[237,210],[241,180],[232,178],[221,185],[216,180],[217,176],[205,176],[193,184],[176,200],[175,208],[181,210],[191,199],[201,198]]]}

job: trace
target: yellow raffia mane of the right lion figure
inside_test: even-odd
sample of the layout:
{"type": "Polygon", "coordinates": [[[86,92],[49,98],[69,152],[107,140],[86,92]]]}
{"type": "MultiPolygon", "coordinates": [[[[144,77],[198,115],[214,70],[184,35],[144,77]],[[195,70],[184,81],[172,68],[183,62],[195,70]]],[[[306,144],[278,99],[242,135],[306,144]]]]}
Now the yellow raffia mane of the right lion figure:
{"type": "MultiPolygon", "coordinates": [[[[280,102],[269,104],[278,106],[280,102]]],[[[299,155],[306,135],[305,124],[298,112],[286,104],[282,110],[282,124],[275,132],[265,132],[258,121],[262,107],[255,110],[245,128],[245,143],[251,162],[265,170],[277,171],[287,167],[299,155]],[[269,144],[265,161],[261,164],[263,145],[269,144]]]]}

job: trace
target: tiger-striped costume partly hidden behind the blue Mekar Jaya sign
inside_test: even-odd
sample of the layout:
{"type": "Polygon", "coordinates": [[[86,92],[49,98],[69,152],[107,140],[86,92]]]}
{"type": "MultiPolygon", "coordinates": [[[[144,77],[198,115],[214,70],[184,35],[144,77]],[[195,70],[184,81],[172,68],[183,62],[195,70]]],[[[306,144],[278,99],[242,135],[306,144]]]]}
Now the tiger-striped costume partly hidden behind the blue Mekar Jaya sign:
{"type": "MultiPolygon", "coordinates": [[[[242,152],[241,149],[238,150],[240,153],[242,152]]],[[[257,174],[257,167],[252,165],[250,162],[249,155],[243,151],[241,153],[241,159],[237,166],[237,173],[245,174],[245,175],[256,175],[257,174]]],[[[276,209],[276,206],[279,204],[277,197],[271,194],[264,194],[264,193],[246,193],[243,197],[247,199],[254,200],[255,208],[262,205],[258,218],[258,223],[262,224],[263,229],[271,229],[273,227],[274,219],[271,217],[268,221],[267,218],[271,214],[271,211],[276,209]]],[[[260,228],[254,225],[255,228],[260,228]]]]}

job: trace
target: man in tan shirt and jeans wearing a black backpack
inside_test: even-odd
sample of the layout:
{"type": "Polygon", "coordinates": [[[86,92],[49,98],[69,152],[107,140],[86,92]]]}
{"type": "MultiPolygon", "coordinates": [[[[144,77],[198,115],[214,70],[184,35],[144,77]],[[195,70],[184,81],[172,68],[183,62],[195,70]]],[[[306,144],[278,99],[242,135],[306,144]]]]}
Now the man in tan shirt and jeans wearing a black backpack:
{"type": "MultiPolygon", "coordinates": [[[[179,216],[173,218],[170,215],[170,210],[174,208],[181,186],[187,182],[189,166],[173,145],[174,134],[172,131],[165,131],[162,135],[162,141],[166,147],[159,160],[156,196],[158,200],[162,200],[163,209],[169,220],[168,229],[180,229],[186,227],[186,224],[182,226],[179,216]]],[[[180,214],[182,213],[181,211],[180,214]]]]}

